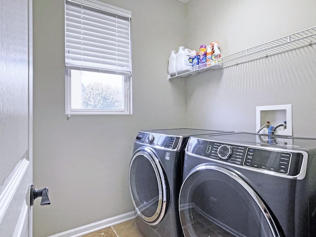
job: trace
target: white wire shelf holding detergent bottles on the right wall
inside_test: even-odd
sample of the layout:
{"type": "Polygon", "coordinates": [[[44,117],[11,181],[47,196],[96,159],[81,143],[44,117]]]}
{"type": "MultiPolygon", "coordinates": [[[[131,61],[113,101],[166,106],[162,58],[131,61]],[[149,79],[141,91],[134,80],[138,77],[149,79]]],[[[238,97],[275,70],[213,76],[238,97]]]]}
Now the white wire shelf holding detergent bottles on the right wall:
{"type": "Polygon", "coordinates": [[[221,62],[218,62],[217,64],[208,66],[205,66],[204,64],[203,67],[201,67],[201,65],[197,65],[188,70],[180,71],[171,75],[168,74],[168,79],[214,71],[220,68],[226,68],[240,63],[250,62],[256,59],[304,47],[313,43],[316,43],[316,26],[279,38],[277,40],[272,40],[236,53],[229,54],[227,56],[223,56],[221,57],[221,62]]]}

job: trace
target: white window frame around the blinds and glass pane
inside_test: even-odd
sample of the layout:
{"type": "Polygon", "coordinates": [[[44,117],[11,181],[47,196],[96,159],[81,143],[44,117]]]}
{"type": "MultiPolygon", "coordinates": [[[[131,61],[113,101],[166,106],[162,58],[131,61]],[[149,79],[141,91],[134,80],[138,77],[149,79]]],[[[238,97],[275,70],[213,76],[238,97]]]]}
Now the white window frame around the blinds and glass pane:
{"type": "MultiPolygon", "coordinates": [[[[75,1],[81,4],[85,4],[90,7],[99,8],[103,11],[108,11],[111,13],[115,13],[118,15],[122,15],[124,17],[129,18],[129,36],[131,37],[131,12],[122,8],[118,8],[116,6],[103,3],[97,0],[70,0],[75,1]]],[[[66,0],[65,0],[65,14],[66,14],[66,0]]],[[[66,16],[65,16],[65,27],[66,27],[66,16]]],[[[131,38],[129,39],[129,68],[130,72],[132,71],[131,65],[131,38]]],[[[65,34],[65,50],[66,50],[66,34],[65,34]]],[[[108,71],[102,70],[98,72],[95,68],[91,68],[91,70],[84,66],[82,68],[76,66],[69,66],[66,64],[66,51],[65,51],[65,112],[68,117],[70,115],[132,115],[132,76],[121,74],[123,77],[123,96],[124,96],[124,108],[122,110],[106,110],[106,109],[72,109],[71,108],[71,70],[82,70],[82,71],[93,71],[97,73],[105,73],[105,74],[117,74],[116,71],[108,71]]]]}

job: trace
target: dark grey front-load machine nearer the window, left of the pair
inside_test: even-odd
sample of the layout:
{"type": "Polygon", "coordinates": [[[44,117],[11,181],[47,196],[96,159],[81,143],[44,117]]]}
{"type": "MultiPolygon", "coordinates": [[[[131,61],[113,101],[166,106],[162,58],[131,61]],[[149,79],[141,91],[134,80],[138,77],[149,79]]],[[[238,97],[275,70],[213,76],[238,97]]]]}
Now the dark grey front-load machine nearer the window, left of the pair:
{"type": "Polygon", "coordinates": [[[178,198],[188,138],[224,131],[164,129],[139,131],[129,166],[136,224],[145,237],[181,237],[178,198]]]}

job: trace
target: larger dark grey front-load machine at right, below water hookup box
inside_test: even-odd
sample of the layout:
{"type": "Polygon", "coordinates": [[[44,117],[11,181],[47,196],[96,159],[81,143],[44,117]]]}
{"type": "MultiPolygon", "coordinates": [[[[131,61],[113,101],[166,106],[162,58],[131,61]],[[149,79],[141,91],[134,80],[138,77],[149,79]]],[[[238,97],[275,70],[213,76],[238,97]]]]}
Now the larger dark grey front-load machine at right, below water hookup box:
{"type": "Polygon", "coordinates": [[[316,237],[316,139],[192,136],[179,213],[185,237],[316,237]]]}

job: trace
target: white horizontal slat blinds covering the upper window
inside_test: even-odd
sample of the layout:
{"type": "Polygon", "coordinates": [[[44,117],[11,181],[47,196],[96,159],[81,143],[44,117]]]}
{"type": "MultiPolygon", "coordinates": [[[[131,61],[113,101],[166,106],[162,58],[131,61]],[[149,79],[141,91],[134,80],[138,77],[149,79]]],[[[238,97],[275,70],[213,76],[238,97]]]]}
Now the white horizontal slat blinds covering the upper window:
{"type": "Polygon", "coordinates": [[[130,16],[82,2],[66,0],[66,67],[131,76],[130,16]]]}

